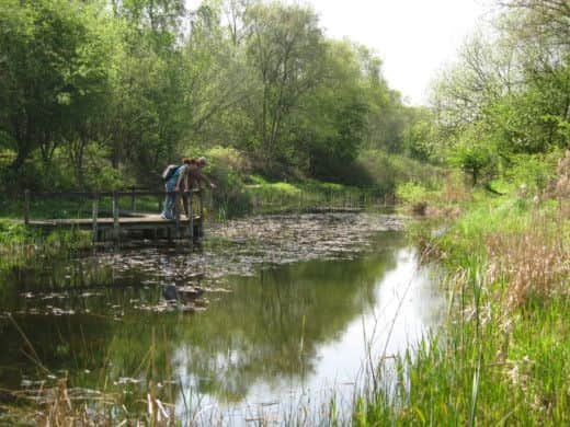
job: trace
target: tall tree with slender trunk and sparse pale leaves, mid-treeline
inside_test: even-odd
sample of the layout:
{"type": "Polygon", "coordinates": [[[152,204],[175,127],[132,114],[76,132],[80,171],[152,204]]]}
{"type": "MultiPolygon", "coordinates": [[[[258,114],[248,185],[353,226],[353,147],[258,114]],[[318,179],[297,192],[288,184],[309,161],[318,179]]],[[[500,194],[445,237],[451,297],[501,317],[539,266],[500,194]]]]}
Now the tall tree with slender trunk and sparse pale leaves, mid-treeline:
{"type": "Polygon", "coordinates": [[[287,115],[322,77],[324,44],[317,15],[300,7],[254,4],[246,12],[248,57],[260,82],[255,128],[261,158],[271,168],[287,115]]]}

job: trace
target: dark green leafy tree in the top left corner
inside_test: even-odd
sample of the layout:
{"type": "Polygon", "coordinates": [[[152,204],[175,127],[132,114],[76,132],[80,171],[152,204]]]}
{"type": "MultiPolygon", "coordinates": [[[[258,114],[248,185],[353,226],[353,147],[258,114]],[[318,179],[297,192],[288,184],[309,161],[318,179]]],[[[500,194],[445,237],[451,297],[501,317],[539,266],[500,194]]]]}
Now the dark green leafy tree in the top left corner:
{"type": "Polygon", "coordinates": [[[93,31],[96,7],[61,0],[4,0],[0,11],[0,129],[20,170],[37,148],[48,161],[105,102],[111,57],[93,31]]]}

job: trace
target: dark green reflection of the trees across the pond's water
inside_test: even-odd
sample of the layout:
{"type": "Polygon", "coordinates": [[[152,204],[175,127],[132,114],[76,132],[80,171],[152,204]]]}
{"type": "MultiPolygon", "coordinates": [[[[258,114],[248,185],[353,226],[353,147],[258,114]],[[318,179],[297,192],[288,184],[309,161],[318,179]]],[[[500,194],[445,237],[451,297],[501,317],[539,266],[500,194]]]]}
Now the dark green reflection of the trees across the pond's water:
{"type": "MultiPolygon", "coordinates": [[[[72,385],[102,389],[119,377],[158,382],[181,374],[192,378],[201,393],[239,401],[260,380],[271,384],[272,379],[305,378],[315,370],[319,347],[375,303],[375,285],[395,265],[399,239],[384,233],[378,244],[387,250],[354,261],[298,263],[233,278],[233,292],[207,295],[208,309],[196,314],[132,310],[130,300],[153,303],[159,290],[126,289],[88,300],[93,313],[121,307],[121,321],[112,313],[27,316],[21,325],[42,361],[54,371],[68,369],[72,385]]],[[[14,343],[0,356],[0,363],[10,366],[22,360],[25,345],[4,321],[0,327],[14,343]]],[[[14,385],[14,380],[0,374],[2,385],[14,385]]]]}

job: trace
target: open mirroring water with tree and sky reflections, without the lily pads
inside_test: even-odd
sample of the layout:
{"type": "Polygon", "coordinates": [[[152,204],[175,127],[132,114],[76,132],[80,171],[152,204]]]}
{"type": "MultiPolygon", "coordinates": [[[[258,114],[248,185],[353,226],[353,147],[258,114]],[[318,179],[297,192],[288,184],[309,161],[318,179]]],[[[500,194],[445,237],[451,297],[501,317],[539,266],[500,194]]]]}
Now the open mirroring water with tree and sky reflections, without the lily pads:
{"type": "MultiPolygon", "coordinates": [[[[221,253],[223,265],[231,251],[206,249],[193,258],[118,253],[20,270],[4,280],[1,296],[20,331],[0,319],[7,343],[0,386],[45,377],[41,362],[67,371],[75,386],[136,391],[153,380],[180,416],[204,424],[241,424],[260,412],[283,422],[299,405],[318,418],[331,390],[347,404],[369,360],[408,348],[436,319],[440,299],[402,234],[366,239],[368,250],[360,255],[351,249],[347,257],[259,264],[250,276],[221,276],[216,287],[230,292],[206,292],[193,312],[141,308],[160,301],[157,284],[195,273],[196,258],[221,253]],[[109,257],[135,262],[117,267],[109,257]],[[53,291],[61,282],[76,290],[53,291]],[[78,288],[93,284],[111,287],[78,288]]],[[[294,255],[294,249],[280,251],[294,255]]]]}

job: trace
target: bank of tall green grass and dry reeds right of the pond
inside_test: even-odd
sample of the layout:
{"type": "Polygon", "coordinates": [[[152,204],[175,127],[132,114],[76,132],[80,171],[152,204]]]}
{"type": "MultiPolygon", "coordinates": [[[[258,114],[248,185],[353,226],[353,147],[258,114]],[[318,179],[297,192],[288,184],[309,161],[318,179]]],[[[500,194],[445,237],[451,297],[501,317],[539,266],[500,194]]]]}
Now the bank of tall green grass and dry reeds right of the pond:
{"type": "Polygon", "coordinates": [[[380,386],[358,402],[356,425],[570,423],[565,180],[539,196],[476,191],[426,209],[438,218],[412,233],[446,272],[447,322],[397,360],[395,391],[380,386]]]}

